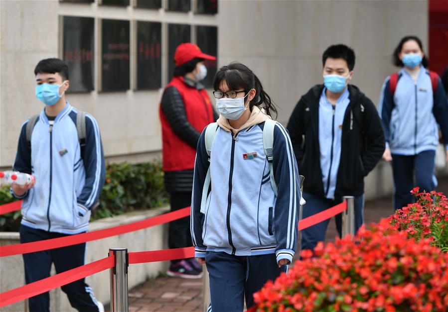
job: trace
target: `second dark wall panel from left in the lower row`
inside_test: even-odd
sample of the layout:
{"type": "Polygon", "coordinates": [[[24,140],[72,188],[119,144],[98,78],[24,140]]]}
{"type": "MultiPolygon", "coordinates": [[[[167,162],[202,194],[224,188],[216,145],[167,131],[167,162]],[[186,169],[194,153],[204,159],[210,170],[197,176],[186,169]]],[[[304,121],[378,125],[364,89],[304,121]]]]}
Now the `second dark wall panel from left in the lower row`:
{"type": "Polygon", "coordinates": [[[129,20],[103,19],[101,90],[128,90],[129,74],[129,20]]]}

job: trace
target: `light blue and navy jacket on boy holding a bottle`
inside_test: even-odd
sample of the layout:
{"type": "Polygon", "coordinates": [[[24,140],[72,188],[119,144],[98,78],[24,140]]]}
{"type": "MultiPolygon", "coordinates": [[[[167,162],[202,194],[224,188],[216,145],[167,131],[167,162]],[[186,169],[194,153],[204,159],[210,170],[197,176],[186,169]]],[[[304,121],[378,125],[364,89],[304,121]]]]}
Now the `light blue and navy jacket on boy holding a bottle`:
{"type": "Polygon", "coordinates": [[[33,128],[31,154],[22,125],[14,170],[36,177],[23,196],[21,224],[50,232],[76,234],[88,229],[90,209],[97,203],[106,177],[100,130],[86,114],[86,145],[81,158],[77,110],[70,104],[50,125],[44,111],[33,128]]]}

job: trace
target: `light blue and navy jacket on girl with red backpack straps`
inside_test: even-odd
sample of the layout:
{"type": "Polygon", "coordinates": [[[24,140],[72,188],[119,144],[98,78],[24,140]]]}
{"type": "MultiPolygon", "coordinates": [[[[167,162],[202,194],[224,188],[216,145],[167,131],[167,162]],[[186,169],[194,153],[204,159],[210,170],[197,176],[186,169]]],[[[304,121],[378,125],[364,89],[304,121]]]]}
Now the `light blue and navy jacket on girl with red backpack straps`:
{"type": "Polygon", "coordinates": [[[436,150],[439,126],[448,144],[448,103],[442,81],[433,93],[429,71],[421,67],[417,83],[402,69],[392,97],[390,77],[381,91],[378,112],[383,124],[386,147],[392,154],[416,155],[436,150]],[[439,125],[439,126],[438,126],[439,125]]]}

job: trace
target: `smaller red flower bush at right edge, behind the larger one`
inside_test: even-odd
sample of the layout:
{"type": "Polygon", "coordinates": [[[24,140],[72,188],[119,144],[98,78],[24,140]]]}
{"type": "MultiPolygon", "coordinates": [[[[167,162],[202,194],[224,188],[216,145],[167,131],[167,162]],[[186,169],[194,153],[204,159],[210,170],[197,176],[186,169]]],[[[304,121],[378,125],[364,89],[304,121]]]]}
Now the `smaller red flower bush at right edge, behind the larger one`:
{"type": "Polygon", "coordinates": [[[416,203],[391,215],[390,225],[395,230],[406,232],[409,238],[429,238],[432,245],[448,252],[448,199],[434,191],[419,193],[419,188],[411,193],[416,196],[416,203]]]}

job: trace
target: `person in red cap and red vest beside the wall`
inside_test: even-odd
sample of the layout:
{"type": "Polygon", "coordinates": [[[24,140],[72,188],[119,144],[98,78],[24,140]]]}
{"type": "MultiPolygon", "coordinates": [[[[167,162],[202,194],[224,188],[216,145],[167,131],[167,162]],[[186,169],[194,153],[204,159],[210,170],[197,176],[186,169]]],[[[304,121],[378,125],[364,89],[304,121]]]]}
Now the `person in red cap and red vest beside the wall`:
{"type": "MultiPolygon", "coordinates": [[[[180,44],[174,53],[174,78],[165,87],[160,102],[164,183],[171,211],[191,205],[197,141],[204,127],[218,118],[200,83],[207,76],[204,60],[216,57],[202,53],[193,43],[180,44]]],[[[189,224],[189,217],[169,223],[169,248],[193,245],[189,224]]],[[[194,258],[173,260],[167,274],[200,278],[202,267],[194,258]]]]}

